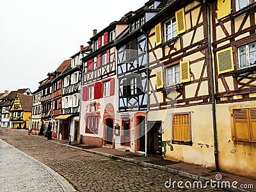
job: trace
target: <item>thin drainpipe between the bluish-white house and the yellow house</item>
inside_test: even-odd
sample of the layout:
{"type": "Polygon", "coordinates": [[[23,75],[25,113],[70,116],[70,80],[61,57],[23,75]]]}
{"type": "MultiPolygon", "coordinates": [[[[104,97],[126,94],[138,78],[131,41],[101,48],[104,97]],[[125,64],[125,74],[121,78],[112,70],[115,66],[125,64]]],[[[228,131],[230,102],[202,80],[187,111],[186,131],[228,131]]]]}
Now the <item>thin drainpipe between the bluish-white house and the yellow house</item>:
{"type": "Polygon", "coordinates": [[[148,61],[149,61],[149,56],[148,56],[148,34],[145,31],[142,31],[141,29],[141,33],[143,33],[146,36],[146,45],[147,45],[147,100],[148,100],[148,104],[147,104],[147,111],[146,112],[146,116],[145,116],[145,157],[148,156],[148,112],[149,112],[149,104],[150,104],[150,95],[149,95],[149,76],[148,76],[148,61]]]}

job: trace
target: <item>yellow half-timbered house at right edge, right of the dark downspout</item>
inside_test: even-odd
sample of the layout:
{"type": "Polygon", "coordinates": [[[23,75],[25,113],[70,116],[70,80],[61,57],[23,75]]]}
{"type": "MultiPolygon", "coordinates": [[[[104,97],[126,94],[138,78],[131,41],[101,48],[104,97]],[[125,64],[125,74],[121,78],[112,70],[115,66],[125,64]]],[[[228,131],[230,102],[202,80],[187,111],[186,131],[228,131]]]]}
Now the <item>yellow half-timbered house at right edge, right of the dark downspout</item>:
{"type": "Polygon", "coordinates": [[[220,169],[255,177],[256,3],[214,1],[211,10],[220,169]]]}

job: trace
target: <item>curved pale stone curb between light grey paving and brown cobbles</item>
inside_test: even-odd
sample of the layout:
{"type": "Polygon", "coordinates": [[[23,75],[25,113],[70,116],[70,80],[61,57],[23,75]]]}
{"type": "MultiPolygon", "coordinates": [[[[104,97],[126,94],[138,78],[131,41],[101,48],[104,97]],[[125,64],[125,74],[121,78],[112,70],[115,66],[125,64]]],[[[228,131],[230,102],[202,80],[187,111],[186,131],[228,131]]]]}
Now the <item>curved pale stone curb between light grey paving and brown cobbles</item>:
{"type": "MultiPolygon", "coordinates": [[[[3,141],[3,140],[2,140],[3,141]]],[[[6,143],[6,141],[3,141],[4,143],[6,143]]],[[[13,147],[12,145],[10,145],[9,143],[6,143],[6,145],[9,145],[10,147],[13,147]]],[[[15,148],[15,147],[13,147],[15,148]]],[[[15,148],[15,150],[19,150],[18,148],[15,148]]],[[[76,192],[76,189],[74,189],[71,184],[68,183],[68,181],[62,177],[59,173],[55,172],[54,170],[52,170],[52,168],[50,168],[49,166],[45,165],[44,163],[38,161],[37,159],[29,156],[28,154],[22,152],[21,150],[19,150],[20,154],[28,157],[29,159],[31,159],[32,161],[35,161],[35,163],[39,164],[40,166],[42,166],[42,168],[44,168],[47,172],[49,172],[52,177],[54,177],[54,179],[56,179],[56,181],[58,182],[58,184],[61,186],[61,188],[67,192],[76,192]]]]}

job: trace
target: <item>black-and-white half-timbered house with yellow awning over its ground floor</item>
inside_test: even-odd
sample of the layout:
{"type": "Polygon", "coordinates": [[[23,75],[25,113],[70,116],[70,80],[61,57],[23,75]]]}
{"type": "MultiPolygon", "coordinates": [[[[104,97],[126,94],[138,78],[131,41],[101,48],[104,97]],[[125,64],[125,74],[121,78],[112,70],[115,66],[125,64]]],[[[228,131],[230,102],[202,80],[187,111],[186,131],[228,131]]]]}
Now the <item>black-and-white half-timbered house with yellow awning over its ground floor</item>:
{"type": "Polygon", "coordinates": [[[61,74],[62,113],[55,119],[60,121],[60,139],[78,141],[79,113],[81,99],[81,59],[89,51],[89,47],[80,46],[80,51],[71,56],[68,69],[61,74]]]}

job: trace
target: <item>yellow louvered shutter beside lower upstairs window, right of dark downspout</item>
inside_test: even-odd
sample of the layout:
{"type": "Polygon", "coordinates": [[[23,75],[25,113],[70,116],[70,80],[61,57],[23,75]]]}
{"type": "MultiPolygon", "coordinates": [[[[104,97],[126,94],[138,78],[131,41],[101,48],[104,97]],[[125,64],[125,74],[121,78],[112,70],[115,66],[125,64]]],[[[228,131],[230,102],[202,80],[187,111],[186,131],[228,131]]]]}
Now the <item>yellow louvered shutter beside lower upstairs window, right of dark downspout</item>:
{"type": "Polygon", "coordinates": [[[232,47],[223,49],[216,52],[217,55],[217,65],[218,65],[218,74],[223,74],[234,70],[234,59],[233,59],[233,50],[232,47]]]}

